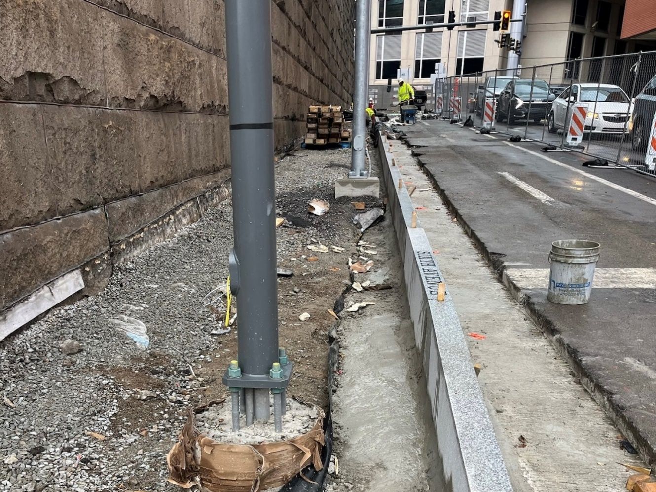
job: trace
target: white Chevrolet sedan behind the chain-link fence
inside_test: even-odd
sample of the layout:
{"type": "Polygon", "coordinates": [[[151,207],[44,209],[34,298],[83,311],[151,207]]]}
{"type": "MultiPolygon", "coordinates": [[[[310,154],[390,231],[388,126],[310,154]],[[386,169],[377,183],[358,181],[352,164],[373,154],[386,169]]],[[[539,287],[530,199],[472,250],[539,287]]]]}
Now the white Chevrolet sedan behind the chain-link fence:
{"type": "Polygon", "coordinates": [[[554,100],[549,113],[549,131],[569,127],[572,108],[575,103],[587,106],[584,133],[621,134],[627,129],[627,122],[633,104],[621,87],[609,84],[573,84],[554,100]]]}

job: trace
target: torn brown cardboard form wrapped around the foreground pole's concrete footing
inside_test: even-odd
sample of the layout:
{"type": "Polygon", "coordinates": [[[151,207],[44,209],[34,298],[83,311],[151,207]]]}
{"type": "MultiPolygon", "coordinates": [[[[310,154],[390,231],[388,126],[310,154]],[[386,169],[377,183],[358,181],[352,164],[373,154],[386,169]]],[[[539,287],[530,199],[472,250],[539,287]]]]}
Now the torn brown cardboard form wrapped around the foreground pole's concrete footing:
{"type": "MultiPolygon", "coordinates": [[[[319,471],[323,410],[306,434],[287,441],[262,444],[220,443],[201,434],[190,411],[178,442],[167,455],[169,482],[208,492],[256,492],[285,485],[312,464],[319,471]]],[[[308,481],[309,482],[309,481],[308,481]]]]}

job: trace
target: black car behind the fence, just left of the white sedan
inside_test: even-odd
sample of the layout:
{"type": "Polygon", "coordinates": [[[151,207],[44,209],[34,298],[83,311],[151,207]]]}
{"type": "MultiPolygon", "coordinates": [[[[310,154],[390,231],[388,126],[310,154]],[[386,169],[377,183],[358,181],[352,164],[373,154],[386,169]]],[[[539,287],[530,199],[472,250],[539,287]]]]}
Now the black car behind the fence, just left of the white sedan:
{"type": "Polygon", "coordinates": [[[512,125],[516,119],[529,119],[539,123],[549,114],[554,99],[556,95],[543,80],[513,80],[499,94],[497,121],[507,118],[512,125]]]}

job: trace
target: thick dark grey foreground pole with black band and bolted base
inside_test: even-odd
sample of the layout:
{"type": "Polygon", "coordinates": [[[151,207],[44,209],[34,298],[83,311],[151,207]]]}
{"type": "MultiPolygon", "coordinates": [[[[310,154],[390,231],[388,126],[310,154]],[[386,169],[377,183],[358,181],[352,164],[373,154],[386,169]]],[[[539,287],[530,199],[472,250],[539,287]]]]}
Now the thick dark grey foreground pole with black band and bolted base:
{"type": "Polygon", "coordinates": [[[239,358],[223,382],[250,425],[269,420],[269,392],[278,403],[292,366],[286,356],[281,364],[278,349],[270,0],[226,0],[226,42],[239,358]]]}

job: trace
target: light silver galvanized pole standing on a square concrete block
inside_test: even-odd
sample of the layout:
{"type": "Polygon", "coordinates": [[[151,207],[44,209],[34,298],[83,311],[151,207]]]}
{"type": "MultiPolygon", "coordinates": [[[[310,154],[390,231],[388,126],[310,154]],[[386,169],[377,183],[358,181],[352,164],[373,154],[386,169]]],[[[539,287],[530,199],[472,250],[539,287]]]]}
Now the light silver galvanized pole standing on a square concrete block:
{"type": "Polygon", "coordinates": [[[367,93],[369,87],[369,10],[371,1],[356,3],[356,76],[353,91],[353,142],[351,148],[350,178],[367,178],[365,148],[367,146],[367,93]]]}

